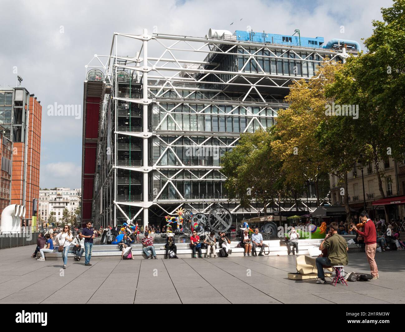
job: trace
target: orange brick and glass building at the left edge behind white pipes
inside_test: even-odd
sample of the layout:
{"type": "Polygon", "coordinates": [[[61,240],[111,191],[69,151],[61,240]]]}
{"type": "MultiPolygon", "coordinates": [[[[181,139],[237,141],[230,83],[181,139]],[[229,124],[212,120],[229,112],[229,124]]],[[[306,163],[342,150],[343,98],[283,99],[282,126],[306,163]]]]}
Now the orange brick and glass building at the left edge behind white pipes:
{"type": "MultiPolygon", "coordinates": [[[[25,88],[0,91],[4,94],[5,107],[0,124],[4,135],[13,141],[11,204],[26,206],[26,225],[32,225],[32,200],[39,197],[39,163],[41,145],[42,106],[25,88]],[[11,96],[7,96],[12,93],[11,96]],[[9,105],[11,104],[11,105],[9,105]]],[[[1,103],[0,103],[1,104],[1,103]]],[[[1,105],[0,105],[1,106],[1,105]]]]}

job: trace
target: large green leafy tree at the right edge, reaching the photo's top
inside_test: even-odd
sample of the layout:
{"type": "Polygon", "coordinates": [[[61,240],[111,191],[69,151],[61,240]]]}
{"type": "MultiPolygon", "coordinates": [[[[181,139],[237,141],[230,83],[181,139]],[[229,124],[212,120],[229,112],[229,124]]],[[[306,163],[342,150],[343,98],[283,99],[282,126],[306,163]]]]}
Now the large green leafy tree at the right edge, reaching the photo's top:
{"type": "MultiPolygon", "coordinates": [[[[383,198],[385,172],[380,163],[390,156],[403,159],[405,151],[405,133],[398,130],[405,125],[404,10],[405,0],[382,9],[384,22],[373,21],[373,35],[365,41],[369,52],[349,58],[329,86],[331,96],[359,106],[358,119],[352,121],[353,144],[364,147],[358,158],[363,165],[375,165],[383,198]]],[[[384,210],[389,220],[386,206],[384,210]]]]}

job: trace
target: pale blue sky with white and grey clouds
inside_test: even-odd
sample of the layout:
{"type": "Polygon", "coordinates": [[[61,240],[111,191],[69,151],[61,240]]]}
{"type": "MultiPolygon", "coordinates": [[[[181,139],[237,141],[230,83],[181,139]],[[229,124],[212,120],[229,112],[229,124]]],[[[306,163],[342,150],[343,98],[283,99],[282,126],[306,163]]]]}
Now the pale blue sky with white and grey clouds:
{"type": "Polygon", "coordinates": [[[52,116],[48,107],[83,110],[85,65],[94,54],[109,54],[114,32],[141,34],[147,28],[203,37],[209,28],[234,32],[250,26],[290,35],[300,29],[301,36],[322,36],[325,42],[362,44],[373,32],[373,19],[381,20],[380,8],[391,5],[391,0],[3,1],[0,87],[15,86],[19,75],[21,86],[41,101],[41,188],[80,188],[83,118],[52,116]]]}

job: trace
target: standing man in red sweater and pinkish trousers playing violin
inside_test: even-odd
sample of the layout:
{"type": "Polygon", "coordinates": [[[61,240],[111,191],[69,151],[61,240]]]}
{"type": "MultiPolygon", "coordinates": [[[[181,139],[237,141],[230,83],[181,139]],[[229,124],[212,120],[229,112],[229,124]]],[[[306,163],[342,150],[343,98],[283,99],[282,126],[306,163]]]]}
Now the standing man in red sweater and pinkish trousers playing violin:
{"type": "Polygon", "coordinates": [[[364,223],[364,231],[359,231],[356,226],[354,226],[353,229],[364,238],[367,261],[370,264],[371,274],[373,275],[373,279],[377,279],[379,278],[378,268],[377,263],[375,263],[374,259],[375,249],[377,249],[377,233],[375,231],[375,225],[369,218],[369,215],[366,211],[360,213],[360,221],[364,223]]]}

